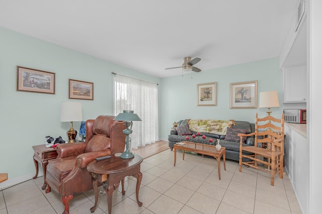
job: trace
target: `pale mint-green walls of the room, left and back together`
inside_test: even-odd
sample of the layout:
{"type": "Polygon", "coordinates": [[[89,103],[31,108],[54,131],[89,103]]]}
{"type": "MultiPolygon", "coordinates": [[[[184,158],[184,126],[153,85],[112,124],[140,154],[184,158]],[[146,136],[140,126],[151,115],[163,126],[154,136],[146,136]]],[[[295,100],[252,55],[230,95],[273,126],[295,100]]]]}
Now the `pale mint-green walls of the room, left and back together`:
{"type": "MultiPolygon", "coordinates": [[[[163,140],[172,123],[181,119],[254,121],[255,112],[265,115],[265,109],[229,109],[230,83],[257,80],[258,92],[277,90],[282,103],[277,58],[160,79],[4,28],[0,35],[0,172],[7,172],[9,178],[0,188],[34,176],[32,146],[43,144],[45,136],[66,139],[70,124],[60,122],[59,117],[61,102],[68,100],[68,79],[94,83],[93,101],[70,100],[82,103],[83,120],[113,114],[111,72],[158,83],[159,138],[163,140]],[[17,92],[17,65],[55,73],[55,95],[17,92]],[[209,82],[217,82],[217,106],[197,107],[197,84],[209,82]]],[[[278,117],[282,107],[272,110],[278,117]]],[[[79,125],[73,124],[76,130],[79,125]]]]}

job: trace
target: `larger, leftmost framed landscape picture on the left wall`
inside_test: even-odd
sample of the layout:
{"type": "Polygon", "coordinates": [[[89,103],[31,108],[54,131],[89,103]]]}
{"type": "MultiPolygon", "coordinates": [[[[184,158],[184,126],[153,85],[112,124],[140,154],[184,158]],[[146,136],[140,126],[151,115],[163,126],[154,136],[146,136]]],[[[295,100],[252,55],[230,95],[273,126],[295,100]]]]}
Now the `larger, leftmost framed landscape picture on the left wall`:
{"type": "Polygon", "coordinates": [[[55,73],[17,66],[17,91],[55,94],[55,73]]]}

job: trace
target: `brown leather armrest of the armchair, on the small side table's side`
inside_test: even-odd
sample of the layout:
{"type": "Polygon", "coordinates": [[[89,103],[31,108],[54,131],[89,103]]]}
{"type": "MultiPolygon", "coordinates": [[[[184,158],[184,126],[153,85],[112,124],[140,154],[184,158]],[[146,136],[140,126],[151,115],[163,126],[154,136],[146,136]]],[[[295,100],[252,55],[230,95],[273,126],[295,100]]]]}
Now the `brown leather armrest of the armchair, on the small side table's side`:
{"type": "Polygon", "coordinates": [[[77,156],[84,153],[86,143],[65,143],[57,146],[57,158],[77,156]]]}

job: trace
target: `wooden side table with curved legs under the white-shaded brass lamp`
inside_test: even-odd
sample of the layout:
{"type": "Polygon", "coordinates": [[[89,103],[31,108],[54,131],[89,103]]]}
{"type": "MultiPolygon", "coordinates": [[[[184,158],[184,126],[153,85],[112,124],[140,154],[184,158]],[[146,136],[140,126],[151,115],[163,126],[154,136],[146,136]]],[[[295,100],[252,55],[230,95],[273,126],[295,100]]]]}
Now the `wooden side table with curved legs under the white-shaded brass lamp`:
{"type": "Polygon", "coordinates": [[[44,172],[44,185],[41,187],[42,190],[46,188],[46,169],[48,160],[55,159],[57,157],[57,150],[55,148],[46,148],[45,144],[37,145],[32,147],[34,149],[34,163],[36,166],[36,175],[33,179],[37,178],[38,175],[38,162],[42,164],[42,169],[44,172]]]}

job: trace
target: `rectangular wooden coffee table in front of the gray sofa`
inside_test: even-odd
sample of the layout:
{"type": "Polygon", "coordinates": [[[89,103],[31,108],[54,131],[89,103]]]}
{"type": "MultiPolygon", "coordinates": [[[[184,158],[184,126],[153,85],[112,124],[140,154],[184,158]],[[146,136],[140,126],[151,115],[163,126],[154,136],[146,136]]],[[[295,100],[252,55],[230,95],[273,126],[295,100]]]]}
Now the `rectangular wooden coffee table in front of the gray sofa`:
{"type": "Polygon", "coordinates": [[[221,147],[220,150],[216,149],[216,146],[202,144],[202,143],[193,143],[188,141],[182,141],[174,145],[174,153],[175,153],[175,166],[176,166],[176,158],[177,158],[177,149],[181,149],[183,151],[182,159],[185,159],[185,151],[196,152],[198,154],[204,154],[208,156],[213,156],[217,159],[218,162],[218,177],[220,180],[220,158],[223,156],[223,166],[226,170],[226,149],[225,147],[221,147]]]}

